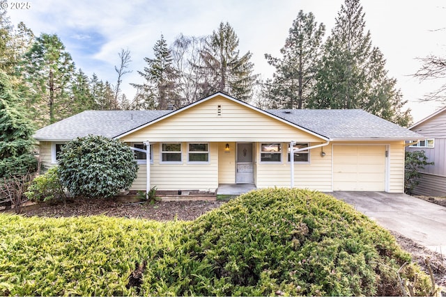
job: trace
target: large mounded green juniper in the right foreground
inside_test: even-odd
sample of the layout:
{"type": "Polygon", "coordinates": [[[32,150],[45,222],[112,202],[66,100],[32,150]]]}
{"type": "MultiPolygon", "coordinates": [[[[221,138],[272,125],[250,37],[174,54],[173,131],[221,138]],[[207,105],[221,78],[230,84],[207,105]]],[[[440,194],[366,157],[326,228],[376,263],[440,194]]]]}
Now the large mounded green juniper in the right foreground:
{"type": "MultiPolygon", "coordinates": [[[[387,230],[314,191],[252,191],[187,229],[148,257],[141,295],[399,296],[397,271],[410,262],[387,230]]],[[[426,280],[419,275],[417,294],[426,280]]]]}

